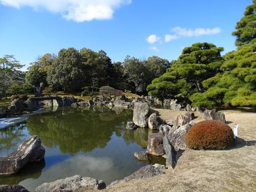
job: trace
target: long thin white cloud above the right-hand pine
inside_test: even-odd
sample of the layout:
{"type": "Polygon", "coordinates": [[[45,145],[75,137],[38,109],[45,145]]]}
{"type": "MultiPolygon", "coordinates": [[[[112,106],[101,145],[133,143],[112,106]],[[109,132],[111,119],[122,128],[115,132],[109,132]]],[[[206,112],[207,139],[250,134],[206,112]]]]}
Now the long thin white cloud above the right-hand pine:
{"type": "Polygon", "coordinates": [[[195,29],[187,29],[181,27],[175,27],[171,29],[177,36],[182,37],[193,37],[193,36],[202,36],[202,35],[214,35],[220,33],[221,29],[219,27],[216,28],[195,28],[195,29]]]}

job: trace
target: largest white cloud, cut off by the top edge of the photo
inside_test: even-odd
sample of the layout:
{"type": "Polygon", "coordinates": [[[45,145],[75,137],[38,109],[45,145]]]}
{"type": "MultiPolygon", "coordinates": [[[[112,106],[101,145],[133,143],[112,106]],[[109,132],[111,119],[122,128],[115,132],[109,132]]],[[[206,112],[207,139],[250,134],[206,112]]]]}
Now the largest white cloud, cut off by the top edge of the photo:
{"type": "Polygon", "coordinates": [[[93,19],[111,19],[114,10],[132,0],[0,0],[4,6],[32,7],[61,13],[62,17],[76,22],[93,19]]]}

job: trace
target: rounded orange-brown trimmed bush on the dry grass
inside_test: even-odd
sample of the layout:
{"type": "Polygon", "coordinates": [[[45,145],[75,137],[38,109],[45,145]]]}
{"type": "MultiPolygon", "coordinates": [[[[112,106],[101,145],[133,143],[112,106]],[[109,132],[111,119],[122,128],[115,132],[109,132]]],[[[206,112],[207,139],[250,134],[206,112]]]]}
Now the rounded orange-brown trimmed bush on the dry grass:
{"type": "Polygon", "coordinates": [[[216,120],[198,122],[186,135],[186,145],[191,149],[225,149],[233,144],[230,126],[216,120]]]}

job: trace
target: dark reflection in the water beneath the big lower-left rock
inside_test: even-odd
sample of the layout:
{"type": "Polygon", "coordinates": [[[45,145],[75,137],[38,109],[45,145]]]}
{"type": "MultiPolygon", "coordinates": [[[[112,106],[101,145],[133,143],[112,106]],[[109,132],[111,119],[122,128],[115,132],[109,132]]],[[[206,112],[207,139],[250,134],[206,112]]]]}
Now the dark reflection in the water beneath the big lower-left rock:
{"type": "Polygon", "coordinates": [[[18,184],[26,179],[37,179],[45,168],[45,160],[39,162],[31,162],[25,165],[18,173],[11,176],[0,176],[0,184],[10,185],[18,184]]]}

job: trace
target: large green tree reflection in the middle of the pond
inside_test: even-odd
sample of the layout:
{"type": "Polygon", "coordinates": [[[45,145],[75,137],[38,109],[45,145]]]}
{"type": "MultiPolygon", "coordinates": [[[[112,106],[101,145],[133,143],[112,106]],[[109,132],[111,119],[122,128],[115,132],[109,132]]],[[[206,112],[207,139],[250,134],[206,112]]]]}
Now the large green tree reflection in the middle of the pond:
{"type": "Polygon", "coordinates": [[[70,110],[66,109],[67,115],[56,111],[31,116],[27,122],[30,135],[38,135],[47,147],[59,146],[62,152],[76,154],[78,151],[88,152],[96,147],[105,147],[113,132],[122,135],[122,130],[116,125],[131,119],[131,112],[127,110],[120,115],[109,110],[70,110]]]}

